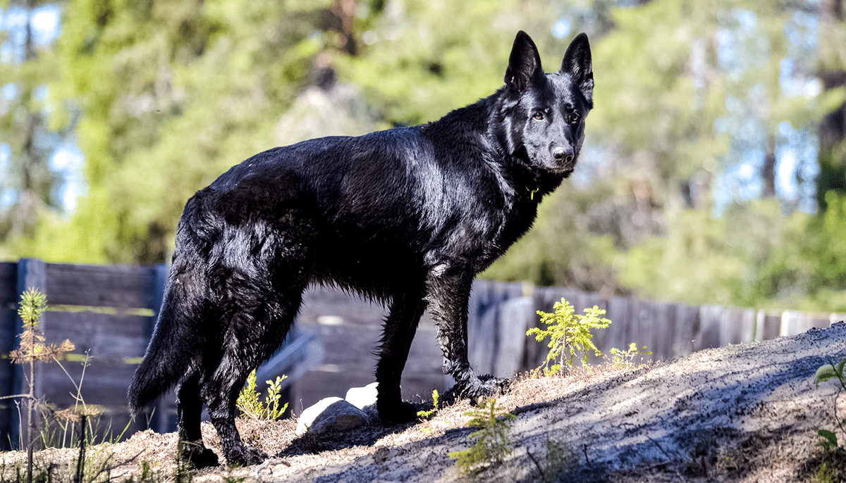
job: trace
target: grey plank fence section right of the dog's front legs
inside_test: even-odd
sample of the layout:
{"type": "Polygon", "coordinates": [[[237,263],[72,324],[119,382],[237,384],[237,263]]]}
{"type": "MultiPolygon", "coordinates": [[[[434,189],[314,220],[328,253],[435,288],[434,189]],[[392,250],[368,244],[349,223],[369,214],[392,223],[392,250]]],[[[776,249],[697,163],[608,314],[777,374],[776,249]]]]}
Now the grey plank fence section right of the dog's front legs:
{"type": "Polygon", "coordinates": [[[652,352],[645,359],[665,361],[696,350],[800,334],[846,318],[836,313],[768,312],[603,298],[560,287],[477,280],[470,301],[471,362],[480,371],[497,376],[539,366],[546,358],[546,345],[525,337],[525,332],[542,326],[537,311],[552,312],[553,304],[562,298],[576,313],[594,306],[606,311],[605,317],[613,323],[596,330],[593,338],[603,353],[612,348],[625,350],[634,342],[652,352]]]}

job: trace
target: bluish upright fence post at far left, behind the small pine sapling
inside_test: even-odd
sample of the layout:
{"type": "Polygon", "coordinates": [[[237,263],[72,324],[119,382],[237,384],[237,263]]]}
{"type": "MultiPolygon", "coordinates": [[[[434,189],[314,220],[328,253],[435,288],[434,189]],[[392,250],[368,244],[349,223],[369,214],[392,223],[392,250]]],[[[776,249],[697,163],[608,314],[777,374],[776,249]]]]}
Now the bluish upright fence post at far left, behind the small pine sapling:
{"type": "MultiPolygon", "coordinates": [[[[42,294],[47,296],[47,264],[44,263],[43,260],[38,260],[36,258],[21,258],[18,261],[18,293],[17,297],[15,298],[15,304],[20,303],[20,296],[24,294],[26,290],[36,289],[40,291],[42,294]]],[[[47,304],[49,305],[50,299],[47,298],[47,304]]],[[[18,339],[18,336],[23,333],[24,331],[24,321],[20,318],[20,316],[15,316],[15,328],[14,334],[16,334],[15,339],[18,339]]],[[[44,318],[41,318],[41,326],[39,327],[41,332],[44,332],[44,318]]],[[[18,346],[17,340],[14,342],[14,347],[18,346]]],[[[41,390],[41,365],[36,366],[36,387],[35,393],[36,397],[41,395],[43,391],[41,390]]],[[[24,365],[23,364],[15,364],[14,369],[12,371],[12,393],[13,394],[22,394],[27,391],[24,389],[24,365]]],[[[12,442],[21,441],[20,437],[23,436],[23,441],[28,441],[26,437],[26,433],[21,434],[20,430],[23,426],[22,421],[20,421],[19,411],[11,411],[12,415],[12,424],[9,428],[9,436],[11,437],[12,442]],[[17,424],[16,424],[17,423],[17,424]]],[[[29,431],[29,428],[25,428],[25,431],[29,431]]],[[[23,449],[23,448],[21,448],[23,449]]]]}

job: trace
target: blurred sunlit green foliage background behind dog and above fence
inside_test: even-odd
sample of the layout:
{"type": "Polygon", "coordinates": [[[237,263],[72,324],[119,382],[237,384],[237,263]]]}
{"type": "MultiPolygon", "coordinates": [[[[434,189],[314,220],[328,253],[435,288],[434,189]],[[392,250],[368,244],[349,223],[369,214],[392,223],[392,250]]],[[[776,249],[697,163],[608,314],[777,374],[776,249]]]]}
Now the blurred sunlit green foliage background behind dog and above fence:
{"type": "Polygon", "coordinates": [[[0,98],[0,144],[11,149],[0,188],[40,200],[32,214],[23,196],[0,205],[0,258],[162,263],[185,201],[229,166],[305,134],[435,120],[502,85],[517,30],[532,35],[547,71],[558,69],[569,40],[584,30],[596,107],[580,167],[541,204],[534,229],[483,276],[606,295],[846,311],[843,138],[822,136],[819,160],[803,160],[823,173],[798,181],[816,189],[816,212],[768,192],[766,172],[755,174],[761,193],[728,193],[728,204],[714,196],[744,153],[758,149],[780,162],[785,123],[813,137],[829,113],[842,112],[843,85],[827,79],[846,71],[846,27],[821,4],[60,5],[56,41],[24,62],[0,62],[22,93],[0,98]],[[562,38],[552,35],[558,19],[569,22],[562,38]],[[814,22],[816,30],[808,27],[814,22]],[[810,40],[789,40],[796,35],[810,40]],[[822,89],[786,90],[785,59],[796,75],[819,76],[822,89]],[[39,86],[47,86],[46,98],[31,94],[39,86]],[[319,86],[329,111],[312,101],[319,86]],[[25,121],[36,118],[85,155],[87,191],[73,213],[56,200],[47,157],[24,149],[25,121]],[[332,118],[349,122],[338,127],[332,118]]]}

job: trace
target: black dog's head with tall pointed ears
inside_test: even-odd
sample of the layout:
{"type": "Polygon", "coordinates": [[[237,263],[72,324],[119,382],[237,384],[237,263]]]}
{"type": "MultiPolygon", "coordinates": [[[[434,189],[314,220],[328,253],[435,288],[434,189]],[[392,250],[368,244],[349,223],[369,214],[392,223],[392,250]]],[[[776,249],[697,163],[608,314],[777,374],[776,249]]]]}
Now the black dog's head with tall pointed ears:
{"type": "Polygon", "coordinates": [[[569,176],[593,107],[593,69],[587,35],[578,35],[561,70],[544,73],[535,42],[520,31],[505,71],[509,152],[535,169],[569,176]],[[525,152],[524,152],[525,150],[525,152]]]}

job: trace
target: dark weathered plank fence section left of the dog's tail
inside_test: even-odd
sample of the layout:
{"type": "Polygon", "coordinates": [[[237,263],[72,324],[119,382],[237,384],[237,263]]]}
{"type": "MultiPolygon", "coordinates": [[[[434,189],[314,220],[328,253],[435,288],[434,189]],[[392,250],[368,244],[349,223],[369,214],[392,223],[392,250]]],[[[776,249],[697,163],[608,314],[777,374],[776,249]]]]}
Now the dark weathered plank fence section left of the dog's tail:
{"type": "MultiPolygon", "coordinates": [[[[63,361],[70,377],[55,363],[36,364],[37,397],[67,408],[75,403],[74,382],[82,383],[85,403],[98,405],[103,426],[111,421],[113,431],[119,433],[129,422],[126,388],[135,370],[132,362],[144,355],[166,275],[163,265],[85,266],[35,259],[0,263],[0,354],[8,355],[18,345],[20,294],[30,288],[41,290],[49,305],[40,325],[47,343],[70,339],[76,345],[74,353],[91,355],[91,362],[84,368],[78,357],[63,361]]],[[[10,364],[8,357],[0,360],[3,395],[27,391],[21,369],[10,364]]],[[[17,444],[17,406],[8,399],[0,403],[0,444],[17,444]]],[[[130,425],[128,432],[140,429],[142,422],[146,424],[130,425]]]]}

